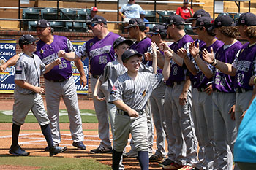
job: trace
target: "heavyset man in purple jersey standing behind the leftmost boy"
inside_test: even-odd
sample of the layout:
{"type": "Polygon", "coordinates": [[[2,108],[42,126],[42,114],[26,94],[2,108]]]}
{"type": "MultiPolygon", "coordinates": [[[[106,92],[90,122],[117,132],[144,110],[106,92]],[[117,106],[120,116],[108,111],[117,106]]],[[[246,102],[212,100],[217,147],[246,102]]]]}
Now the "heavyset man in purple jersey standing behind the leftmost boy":
{"type": "MultiPolygon", "coordinates": [[[[39,56],[43,63],[48,64],[58,58],[58,51],[65,50],[71,52],[72,43],[64,36],[56,36],[52,34],[52,28],[47,20],[39,20],[37,23],[37,51],[35,54],[39,56]]],[[[7,61],[7,66],[12,66],[18,60],[19,55],[14,55],[7,61]]],[[[83,70],[83,63],[75,61],[80,72],[80,82],[86,85],[86,75],[83,70]]],[[[75,88],[75,80],[72,77],[72,68],[69,61],[61,59],[61,64],[54,66],[50,72],[44,74],[45,77],[45,99],[47,104],[48,117],[50,119],[50,128],[53,136],[53,143],[59,145],[61,142],[61,134],[59,129],[59,102],[62,96],[69,115],[70,131],[72,135],[74,147],[86,150],[83,144],[83,128],[78,107],[78,96],[75,88]]],[[[45,150],[49,148],[46,147],[45,150]]]]}

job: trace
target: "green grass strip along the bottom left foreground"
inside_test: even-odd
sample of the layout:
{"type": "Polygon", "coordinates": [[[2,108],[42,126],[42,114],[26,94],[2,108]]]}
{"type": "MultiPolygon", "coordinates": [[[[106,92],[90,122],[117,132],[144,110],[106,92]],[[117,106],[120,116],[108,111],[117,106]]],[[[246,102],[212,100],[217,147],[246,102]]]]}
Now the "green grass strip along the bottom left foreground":
{"type": "Polygon", "coordinates": [[[40,170],[107,170],[110,166],[99,163],[94,159],[84,158],[58,158],[58,157],[15,157],[10,155],[0,155],[1,165],[13,166],[37,166],[40,170]]]}

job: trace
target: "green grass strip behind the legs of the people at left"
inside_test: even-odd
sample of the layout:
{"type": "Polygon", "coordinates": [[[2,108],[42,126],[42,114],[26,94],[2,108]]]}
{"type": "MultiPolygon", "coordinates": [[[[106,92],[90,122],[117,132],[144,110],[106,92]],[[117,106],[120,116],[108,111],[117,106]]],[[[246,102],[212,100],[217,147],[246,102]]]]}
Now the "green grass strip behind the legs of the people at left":
{"type": "MultiPolygon", "coordinates": [[[[65,111],[66,110],[60,110],[60,112],[65,112],[65,111]]],[[[12,115],[4,115],[2,112],[4,111],[0,111],[0,123],[12,123],[12,115]]],[[[98,123],[94,110],[81,109],[80,112],[81,114],[83,113],[93,114],[93,115],[81,115],[83,123],[98,123]]],[[[25,123],[37,123],[37,119],[36,117],[34,117],[34,115],[27,115],[25,123]]],[[[59,123],[69,123],[69,117],[67,115],[60,116],[59,123]]]]}

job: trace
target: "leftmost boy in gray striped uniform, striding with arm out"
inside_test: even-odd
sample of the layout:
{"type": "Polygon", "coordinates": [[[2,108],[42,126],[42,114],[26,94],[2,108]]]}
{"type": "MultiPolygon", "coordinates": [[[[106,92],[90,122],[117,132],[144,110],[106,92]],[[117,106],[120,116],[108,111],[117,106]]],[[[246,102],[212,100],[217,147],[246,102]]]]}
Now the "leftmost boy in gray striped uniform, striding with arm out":
{"type": "Polygon", "coordinates": [[[10,147],[10,154],[16,156],[28,156],[26,152],[18,145],[18,136],[20,133],[20,126],[23,125],[26,115],[31,110],[37,118],[41,126],[42,134],[50,148],[50,156],[67,150],[67,147],[59,147],[53,145],[53,138],[49,127],[48,115],[45,112],[44,103],[41,94],[45,93],[45,89],[40,87],[40,75],[47,73],[53,66],[61,63],[60,59],[49,63],[45,66],[33,52],[37,50],[37,44],[31,35],[23,35],[19,39],[19,45],[23,49],[23,54],[20,55],[15,65],[15,103],[13,104],[12,115],[12,146],[10,147]]]}

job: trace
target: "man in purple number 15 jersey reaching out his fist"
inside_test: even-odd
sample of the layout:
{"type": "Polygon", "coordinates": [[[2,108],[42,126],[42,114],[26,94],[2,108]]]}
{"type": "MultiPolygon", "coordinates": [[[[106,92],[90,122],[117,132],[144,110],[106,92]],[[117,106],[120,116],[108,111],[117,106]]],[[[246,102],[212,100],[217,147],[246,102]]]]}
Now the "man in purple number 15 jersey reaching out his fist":
{"type": "MultiPolygon", "coordinates": [[[[99,78],[100,74],[103,73],[105,65],[108,62],[115,60],[113,42],[115,42],[119,35],[109,32],[106,19],[99,15],[92,18],[91,29],[95,37],[84,43],[80,50],[72,53],[60,51],[59,56],[67,58],[67,60],[75,61],[79,61],[80,58],[90,59],[91,90],[94,92],[97,79],[99,78]]],[[[102,85],[98,95],[100,98],[106,98],[108,96],[108,87],[102,85]]],[[[98,101],[96,98],[93,98],[93,100],[95,112],[99,121],[98,132],[101,142],[97,149],[91,150],[91,153],[112,152],[109,134],[107,101],[98,101]]]]}

